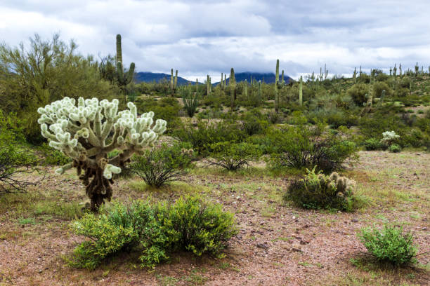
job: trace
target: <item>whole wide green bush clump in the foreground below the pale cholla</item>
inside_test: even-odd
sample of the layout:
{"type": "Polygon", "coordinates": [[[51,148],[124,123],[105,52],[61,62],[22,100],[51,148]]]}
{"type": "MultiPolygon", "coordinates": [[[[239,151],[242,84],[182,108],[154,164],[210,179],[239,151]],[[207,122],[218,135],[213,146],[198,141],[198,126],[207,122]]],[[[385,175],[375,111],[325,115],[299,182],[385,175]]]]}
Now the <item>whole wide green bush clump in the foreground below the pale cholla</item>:
{"type": "Polygon", "coordinates": [[[71,227],[90,240],[74,249],[69,264],[88,269],[124,250],[141,252],[143,268],[154,268],[179,251],[223,257],[221,251],[237,233],[233,214],[200,196],[179,198],[174,204],[136,200],[129,207],[103,205],[100,215],[85,214],[71,227]]]}

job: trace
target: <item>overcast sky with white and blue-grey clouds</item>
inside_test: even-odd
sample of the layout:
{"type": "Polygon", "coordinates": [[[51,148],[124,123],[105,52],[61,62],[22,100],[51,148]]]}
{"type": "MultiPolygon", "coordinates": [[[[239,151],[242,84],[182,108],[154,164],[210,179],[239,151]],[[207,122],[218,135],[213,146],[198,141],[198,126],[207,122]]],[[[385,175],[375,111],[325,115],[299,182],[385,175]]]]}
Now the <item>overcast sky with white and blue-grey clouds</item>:
{"type": "Polygon", "coordinates": [[[92,1],[1,0],[0,41],[16,46],[34,33],[60,32],[80,53],[115,55],[137,71],[178,69],[188,79],[275,71],[297,78],[396,62],[430,65],[430,0],[92,1]],[[302,2],[302,3],[299,3],[302,2]]]}

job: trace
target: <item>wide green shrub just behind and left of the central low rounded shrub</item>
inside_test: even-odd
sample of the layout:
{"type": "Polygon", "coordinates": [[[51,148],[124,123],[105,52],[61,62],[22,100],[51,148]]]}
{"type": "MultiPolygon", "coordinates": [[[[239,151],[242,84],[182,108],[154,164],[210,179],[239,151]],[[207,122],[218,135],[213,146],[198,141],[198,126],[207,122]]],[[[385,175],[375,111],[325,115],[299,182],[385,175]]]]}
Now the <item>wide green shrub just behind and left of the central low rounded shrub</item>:
{"type": "Polygon", "coordinates": [[[174,137],[181,142],[189,142],[194,151],[206,156],[211,152],[211,144],[218,142],[240,142],[245,139],[246,133],[238,128],[236,123],[220,121],[219,123],[209,123],[208,121],[198,121],[197,127],[192,124],[174,132],[174,137]]]}

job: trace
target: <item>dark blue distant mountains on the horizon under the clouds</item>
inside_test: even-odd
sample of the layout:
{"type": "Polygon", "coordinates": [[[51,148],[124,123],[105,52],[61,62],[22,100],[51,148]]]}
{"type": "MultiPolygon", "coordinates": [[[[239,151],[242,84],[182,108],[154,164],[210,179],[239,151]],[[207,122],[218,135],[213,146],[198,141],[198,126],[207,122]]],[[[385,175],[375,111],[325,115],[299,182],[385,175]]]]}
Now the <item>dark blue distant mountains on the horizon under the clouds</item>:
{"type": "MultiPolygon", "coordinates": [[[[228,76],[230,74],[227,74],[228,76]]],[[[257,81],[264,81],[265,83],[274,83],[275,82],[275,74],[273,73],[261,73],[261,72],[238,72],[235,74],[235,79],[237,82],[239,81],[245,81],[245,79],[250,82],[252,79],[256,79],[257,81]]],[[[279,79],[281,78],[281,76],[279,76],[279,79]]],[[[141,71],[141,72],[137,72],[136,74],[134,74],[134,81],[136,83],[140,83],[142,81],[146,82],[146,83],[150,83],[152,81],[161,81],[162,79],[167,79],[167,81],[170,81],[170,74],[163,74],[163,73],[155,73],[155,72],[148,72],[148,71],[141,71]]],[[[285,75],[284,77],[285,82],[289,83],[290,81],[292,81],[292,78],[290,78],[289,76],[285,75]]],[[[227,78],[227,83],[229,81],[229,78],[227,78]]],[[[184,79],[181,76],[178,76],[178,85],[179,86],[183,86],[185,84],[188,83],[188,79],[184,79]]],[[[191,84],[194,84],[195,81],[191,81],[191,84]]],[[[216,86],[218,85],[219,82],[217,83],[212,83],[212,86],[216,86]]]]}

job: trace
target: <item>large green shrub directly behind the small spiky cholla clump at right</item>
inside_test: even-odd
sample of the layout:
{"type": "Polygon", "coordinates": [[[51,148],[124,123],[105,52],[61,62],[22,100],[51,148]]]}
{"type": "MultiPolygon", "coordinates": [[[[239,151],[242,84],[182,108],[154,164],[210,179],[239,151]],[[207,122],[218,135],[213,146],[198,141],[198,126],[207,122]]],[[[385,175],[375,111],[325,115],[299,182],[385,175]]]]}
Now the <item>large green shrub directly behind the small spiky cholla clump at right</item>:
{"type": "Polygon", "coordinates": [[[271,154],[272,168],[313,168],[332,172],[341,168],[348,158],[355,158],[356,144],[342,139],[340,134],[323,133],[325,125],[315,126],[303,123],[284,130],[273,130],[272,137],[275,151],[271,154]]]}

